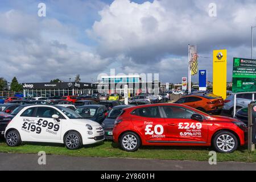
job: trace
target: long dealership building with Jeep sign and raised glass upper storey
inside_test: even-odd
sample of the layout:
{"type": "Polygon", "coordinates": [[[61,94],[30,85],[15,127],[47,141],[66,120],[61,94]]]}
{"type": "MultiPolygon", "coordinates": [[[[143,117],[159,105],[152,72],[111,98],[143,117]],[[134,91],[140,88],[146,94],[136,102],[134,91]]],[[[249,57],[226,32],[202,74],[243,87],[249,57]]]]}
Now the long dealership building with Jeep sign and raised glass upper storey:
{"type": "Polygon", "coordinates": [[[145,82],[139,75],[102,76],[97,83],[88,82],[38,82],[23,83],[24,97],[74,96],[92,93],[125,93],[128,85],[129,96],[138,93],[159,93],[160,82],[145,82]]]}

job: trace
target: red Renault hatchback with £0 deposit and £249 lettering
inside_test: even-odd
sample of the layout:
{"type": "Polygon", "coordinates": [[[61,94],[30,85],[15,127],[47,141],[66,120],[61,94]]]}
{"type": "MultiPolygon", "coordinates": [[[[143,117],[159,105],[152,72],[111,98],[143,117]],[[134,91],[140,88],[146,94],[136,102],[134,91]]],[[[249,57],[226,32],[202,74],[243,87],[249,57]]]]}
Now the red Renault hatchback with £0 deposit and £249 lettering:
{"type": "Polygon", "coordinates": [[[125,151],[142,146],[213,146],[230,153],[245,144],[245,123],[179,104],[129,107],[115,120],[113,139],[125,151]]]}

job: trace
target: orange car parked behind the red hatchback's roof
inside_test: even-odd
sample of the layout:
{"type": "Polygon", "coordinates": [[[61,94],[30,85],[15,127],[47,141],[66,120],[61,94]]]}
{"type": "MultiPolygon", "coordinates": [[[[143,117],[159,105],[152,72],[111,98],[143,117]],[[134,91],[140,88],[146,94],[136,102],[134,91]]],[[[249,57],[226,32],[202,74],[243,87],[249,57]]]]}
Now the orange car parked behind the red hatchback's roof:
{"type": "Polygon", "coordinates": [[[191,106],[205,113],[214,114],[220,114],[222,107],[224,106],[223,98],[210,97],[205,95],[184,96],[177,100],[175,103],[191,106]]]}

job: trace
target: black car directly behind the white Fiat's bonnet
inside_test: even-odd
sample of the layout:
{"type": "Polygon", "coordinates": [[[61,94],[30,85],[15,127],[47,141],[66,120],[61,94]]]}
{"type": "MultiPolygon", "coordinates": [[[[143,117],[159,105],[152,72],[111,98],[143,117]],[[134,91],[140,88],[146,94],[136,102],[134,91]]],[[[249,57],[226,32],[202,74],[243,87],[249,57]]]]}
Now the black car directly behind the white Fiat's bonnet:
{"type": "Polygon", "coordinates": [[[76,113],[80,114],[82,118],[90,119],[101,124],[108,110],[103,105],[85,105],[77,108],[76,113]]]}

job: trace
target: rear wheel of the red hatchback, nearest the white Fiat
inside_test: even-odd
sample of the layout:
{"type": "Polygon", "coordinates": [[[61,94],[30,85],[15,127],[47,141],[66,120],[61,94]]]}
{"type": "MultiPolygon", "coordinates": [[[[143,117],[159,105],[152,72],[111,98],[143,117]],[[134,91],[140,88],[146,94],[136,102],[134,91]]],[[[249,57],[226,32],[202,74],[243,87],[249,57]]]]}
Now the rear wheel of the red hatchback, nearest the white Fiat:
{"type": "Polygon", "coordinates": [[[119,146],[127,152],[137,151],[141,146],[141,138],[134,132],[126,132],[122,134],[119,140],[119,146]]]}

